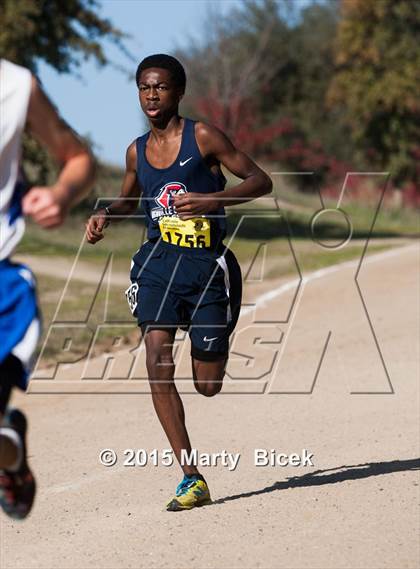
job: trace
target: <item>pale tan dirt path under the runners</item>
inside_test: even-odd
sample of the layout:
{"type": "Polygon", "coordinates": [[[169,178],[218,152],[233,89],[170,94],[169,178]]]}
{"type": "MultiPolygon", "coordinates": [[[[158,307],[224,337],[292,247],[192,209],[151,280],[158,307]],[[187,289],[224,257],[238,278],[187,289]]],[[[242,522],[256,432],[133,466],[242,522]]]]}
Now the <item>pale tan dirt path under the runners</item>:
{"type": "MultiPolygon", "coordinates": [[[[184,395],[193,446],[241,453],[235,471],[203,469],[213,506],[166,513],[179,469],[122,465],[124,449],[168,446],[147,393],[112,395],[115,382],[99,382],[101,394],[16,397],[39,493],[27,522],[1,517],[0,566],[417,568],[418,267],[410,245],[361,270],[383,363],[351,264],[308,281],[288,327],[273,323],[287,287],[256,318],[245,312],[229,372],[248,379],[227,379],[213,399],[184,395]],[[103,448],[116,466],[99,464],[103,448]],[[314,467],[256,467],[255,448],[308,449],[314,467]]],[[[80,372],[63,379],[80,385],[80,372]]]]}

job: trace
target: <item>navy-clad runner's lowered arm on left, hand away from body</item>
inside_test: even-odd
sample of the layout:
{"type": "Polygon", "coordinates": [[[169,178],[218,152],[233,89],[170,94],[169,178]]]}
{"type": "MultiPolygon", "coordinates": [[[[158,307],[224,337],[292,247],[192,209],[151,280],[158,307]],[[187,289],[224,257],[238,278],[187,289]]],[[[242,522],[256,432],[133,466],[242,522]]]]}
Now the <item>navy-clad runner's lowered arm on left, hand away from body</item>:
{"type": "Polygon", "coordinates": [[[121,221],[135,213],[141,195],[140,184],[137,180],[137,151],[136,143],[132,142],[127,148],[126,168],[121,193],[106,211],[105,208],[96,211],[86,224],[86,237],[89,243],[97,243],[103,239],[103,230],[112,217],[113,221],[121,221]]]}

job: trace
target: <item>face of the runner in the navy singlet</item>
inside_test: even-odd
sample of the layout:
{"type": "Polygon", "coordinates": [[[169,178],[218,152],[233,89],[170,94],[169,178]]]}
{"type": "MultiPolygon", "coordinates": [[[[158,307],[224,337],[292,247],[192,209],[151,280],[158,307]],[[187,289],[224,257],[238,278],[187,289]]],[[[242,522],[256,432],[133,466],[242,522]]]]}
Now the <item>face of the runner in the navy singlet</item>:
{"type": "Polygon", "coordinates": [[[139,101],[149,121],[160,122],[178,110],[182,93],[167,69],[152,67],[140,74],[139,101]]]}

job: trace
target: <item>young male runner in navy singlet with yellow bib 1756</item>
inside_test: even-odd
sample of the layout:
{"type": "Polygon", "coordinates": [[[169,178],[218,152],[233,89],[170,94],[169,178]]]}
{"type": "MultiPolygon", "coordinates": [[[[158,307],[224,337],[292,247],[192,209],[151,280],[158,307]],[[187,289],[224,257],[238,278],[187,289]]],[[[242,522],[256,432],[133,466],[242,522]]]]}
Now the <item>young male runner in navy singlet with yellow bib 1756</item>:
{"type": "Polygon", "coordinates": [[[87,239],[102,239],[108,222],[133,214],[142,196],[148,241],[133,257],[126,294],[146,344],[153,404],[184,472],[167,504],[176,511],[209,503],[210,492],[197,467],[181,461],[191,445],[174,382],[174,335],[188,329],[194,385],[216,395],[241,305],[239,265],[222,243],[223,208],[269,193],[272,183],[220,130],[179,116],[186,77],[175,58],[147,57],[136,84],[150,131],[128,147],[121,195],[90,218],[87,239]],[[220,164],[243,181],[225,190],[220,164]]]}

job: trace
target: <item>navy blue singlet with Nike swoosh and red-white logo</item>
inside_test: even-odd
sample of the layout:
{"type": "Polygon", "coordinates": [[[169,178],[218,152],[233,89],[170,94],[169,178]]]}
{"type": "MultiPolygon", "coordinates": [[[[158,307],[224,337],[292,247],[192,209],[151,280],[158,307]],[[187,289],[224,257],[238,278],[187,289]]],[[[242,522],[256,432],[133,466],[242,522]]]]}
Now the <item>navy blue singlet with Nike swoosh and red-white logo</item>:
{"type": "MultiPolygon", "coordinates": [[[[186,192],[203,194],[221,192],[226,184],[222,173],[214,174],[207,166],[195,139],[195,121],[184,118],[182,141],[175,162],[168,168],[155,168],[146,158],[150,131],[136,140],[137,178],[142,187],[141,207],[146,216],[147,237],[161,236],[159,219],[176,216],[173,196],[186,192]]],[[[216,248],[226,235],[224,208],[206,217],[211,224],[211,248],[216,248]]]]}

